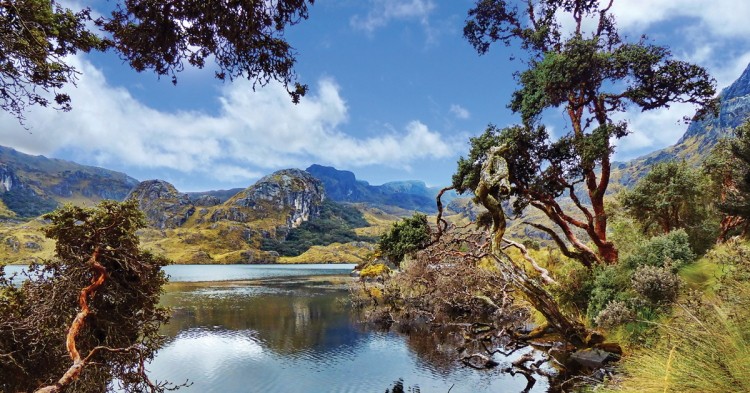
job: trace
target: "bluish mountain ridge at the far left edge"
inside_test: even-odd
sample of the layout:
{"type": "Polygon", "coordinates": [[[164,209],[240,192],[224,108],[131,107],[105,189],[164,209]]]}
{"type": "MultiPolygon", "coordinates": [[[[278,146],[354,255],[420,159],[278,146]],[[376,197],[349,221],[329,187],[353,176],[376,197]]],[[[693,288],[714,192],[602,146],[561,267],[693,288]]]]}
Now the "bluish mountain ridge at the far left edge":
{"type": "Polygon", "coordinates": [[[66,202],[122,200],[136,184],[124,173],[0,146],[0,217],[36,217],[66,202]]]}

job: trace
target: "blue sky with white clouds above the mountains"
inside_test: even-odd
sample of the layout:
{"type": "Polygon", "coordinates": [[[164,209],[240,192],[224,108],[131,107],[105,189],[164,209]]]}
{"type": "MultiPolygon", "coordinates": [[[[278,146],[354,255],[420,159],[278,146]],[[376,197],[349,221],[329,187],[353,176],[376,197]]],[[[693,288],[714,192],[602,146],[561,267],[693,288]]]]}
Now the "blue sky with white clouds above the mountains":
{"type": "MultiPolygon", "coordinates": [[[[72,0],[71,0],[72,1],[72,0]]],[[[97,7],[107,3],[80,3],[97,7]]],[[[113,53],[69,59],[81,72],[66,91],[73,110],[32,108],[26,128],[0,113],[0,145],[162,179],[178,190],[247,187],[285,168],[311,164],[350,170],[371,184],[422,180],[444,186],[468,140],[488,124],[520,122],[507,104],[524,53],[495,45],[479,56],[463,38],[472,0],[316,0],[286,38],[310,87],[295,105],[271,83],[221,82],[212,69],[169,78],[137,73],[113,53]]],[[[622,35],[646,34],[675,58],[705,67],[719,89],[750,63],[750,2],[615,0],[622,35]]],[[[625,161],[669,146],[685,132],[691,105],[620,115],[631,135],[618,140],[625,161]]],[[[543,119],[553,136],[564,117],[543,119]]]]}

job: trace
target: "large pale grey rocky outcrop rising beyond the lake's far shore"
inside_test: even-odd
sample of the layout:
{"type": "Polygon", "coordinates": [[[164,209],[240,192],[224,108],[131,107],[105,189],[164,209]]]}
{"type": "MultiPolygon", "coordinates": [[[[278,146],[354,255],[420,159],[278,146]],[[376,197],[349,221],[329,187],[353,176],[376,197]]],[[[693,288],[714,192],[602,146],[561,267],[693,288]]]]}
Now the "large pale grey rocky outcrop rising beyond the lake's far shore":
{"type": "Polygon", "coordinates": [[[317,217],[325,199],[323,184],[299,169],[285,169],[240,191],[211,215],[211,221],[282,220],[287,228],[317,217]]]}

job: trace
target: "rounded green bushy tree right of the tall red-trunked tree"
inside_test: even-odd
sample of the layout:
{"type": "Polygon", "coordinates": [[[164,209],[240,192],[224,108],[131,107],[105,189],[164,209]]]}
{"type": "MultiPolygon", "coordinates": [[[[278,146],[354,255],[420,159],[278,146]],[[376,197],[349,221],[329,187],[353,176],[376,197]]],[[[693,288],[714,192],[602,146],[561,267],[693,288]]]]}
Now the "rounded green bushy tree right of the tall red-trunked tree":
{"type": "Polygon", "coordinates": [[[684,228],[700,251],[713,243],[718,229],[718,222],[711,221],[711,198],[708,177],[685,161],[654,165],[635,187],[619,195],[623,208],[645,234],[684,228]]]}

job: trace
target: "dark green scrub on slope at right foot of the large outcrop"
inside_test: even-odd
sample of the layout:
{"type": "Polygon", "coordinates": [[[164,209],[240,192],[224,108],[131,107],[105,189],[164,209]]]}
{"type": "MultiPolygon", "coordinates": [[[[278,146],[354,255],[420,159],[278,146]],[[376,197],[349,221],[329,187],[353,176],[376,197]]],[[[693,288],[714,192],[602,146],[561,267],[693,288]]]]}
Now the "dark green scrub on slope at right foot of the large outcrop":
{"type": "Polygon", "coordinates": [[[369,224],[362,213],[356,208],[325,200],[319,217],[289,230],[282,240],[263,239],[261,250],[276,251],[283,256],[297,256],[312,246],[372,240],[354,232],[354,228],[367,225],[369,224]]]}

